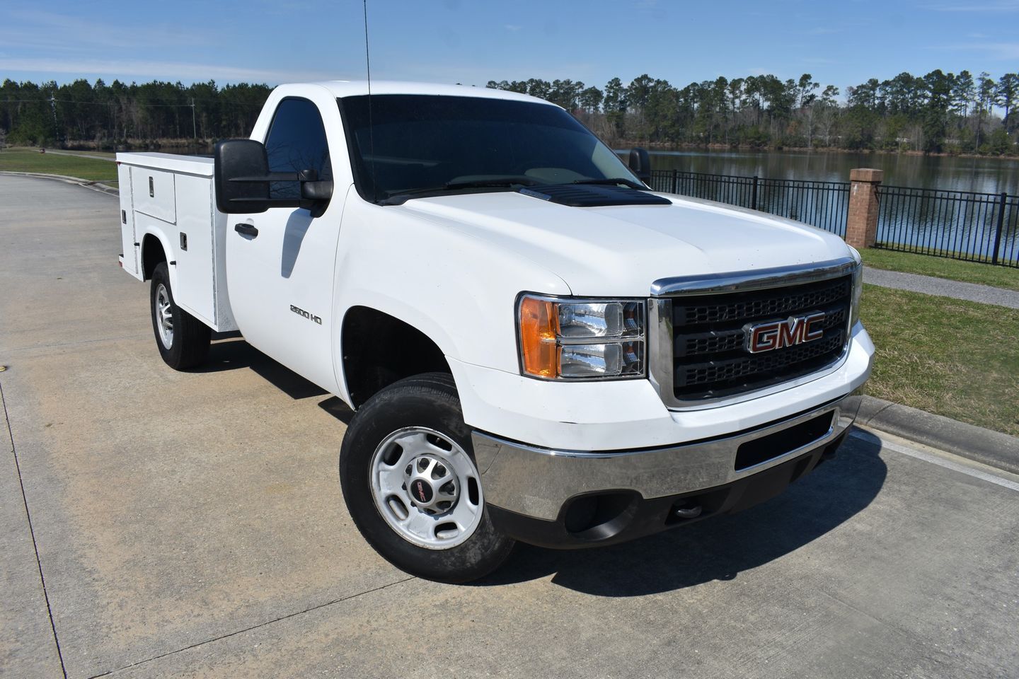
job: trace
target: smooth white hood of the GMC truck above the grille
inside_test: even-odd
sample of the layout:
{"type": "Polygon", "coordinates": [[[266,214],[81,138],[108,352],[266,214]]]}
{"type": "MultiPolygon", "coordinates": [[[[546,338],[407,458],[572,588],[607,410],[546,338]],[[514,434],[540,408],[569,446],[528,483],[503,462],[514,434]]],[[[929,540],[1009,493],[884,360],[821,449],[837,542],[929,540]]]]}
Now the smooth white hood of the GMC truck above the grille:
{"type": "Polygon", "coordinates": [[[645,297],[659,278],[849,254],[840,237],[799,222],[709,201],[664,197],[668,205],[577,208],[505,191],[415,199],[389,209],[525,257],[559,276],[576,295],[645,297]]]}

